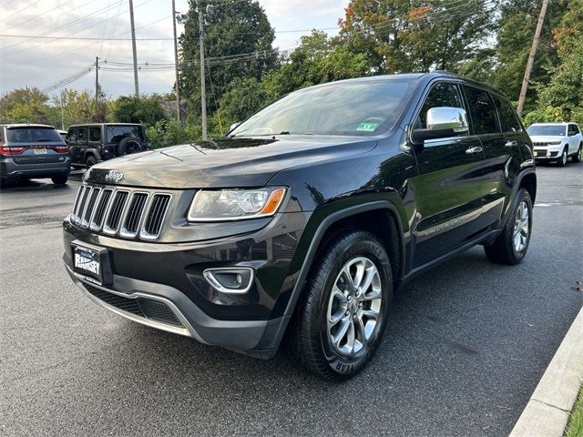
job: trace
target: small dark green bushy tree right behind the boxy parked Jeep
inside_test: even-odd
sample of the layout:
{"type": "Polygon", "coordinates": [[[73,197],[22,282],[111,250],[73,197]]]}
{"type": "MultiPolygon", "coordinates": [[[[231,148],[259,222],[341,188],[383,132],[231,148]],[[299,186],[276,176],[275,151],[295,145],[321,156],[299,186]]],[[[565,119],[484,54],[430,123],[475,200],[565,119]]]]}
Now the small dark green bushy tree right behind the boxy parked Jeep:
{"type": "Polygon", "coordinates": [[[154,126],[166,117],[159,97],[122,96],[116,101],[113,119],[118,123],[143,123],[154,126]]]}

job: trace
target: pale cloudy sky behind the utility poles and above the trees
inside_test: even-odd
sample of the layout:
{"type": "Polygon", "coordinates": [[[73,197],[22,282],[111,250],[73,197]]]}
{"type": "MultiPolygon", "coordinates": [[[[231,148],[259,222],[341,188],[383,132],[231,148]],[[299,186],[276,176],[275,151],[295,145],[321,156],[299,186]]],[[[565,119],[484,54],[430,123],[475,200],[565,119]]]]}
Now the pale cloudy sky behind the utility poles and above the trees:
{"type": "MultiPolygon", "coordinates": [[[[234,1],[240,0],[217,3],[234,1]]],[[[298,45],[300,36],[310,33],[296,30],[335,28],[349,0],[259,0],[259,3],[276,32],[273,46],[289,49],[298,45]]],[[[133,0],[133,4],[138,63],[173,63],[170,0],[133,0]]],[[[188,11],[187,0],[176,0],[176,10],[188,11]]],[[[106,60],[131,63],[128,11],[128,0],[0,0],[0,94],[16,87],[56,86],[62,79],[86,72],[96,56],[101,63],[106,60]]],[[[177,30],[181,33],[183,26],[179,25],[177,30]]],[[[337,34],[334,29],[326,32],[337,34]]],[[[100,70],[99,76],[100,85],[110,97],[134,92],[131,70],[100,70]]],[[[174,70],[141,71],[138,77],[140,93],[166,93],[174,84],[174,70]]],[[[66,87],[93,90],[95,72],[66,87]]]]}

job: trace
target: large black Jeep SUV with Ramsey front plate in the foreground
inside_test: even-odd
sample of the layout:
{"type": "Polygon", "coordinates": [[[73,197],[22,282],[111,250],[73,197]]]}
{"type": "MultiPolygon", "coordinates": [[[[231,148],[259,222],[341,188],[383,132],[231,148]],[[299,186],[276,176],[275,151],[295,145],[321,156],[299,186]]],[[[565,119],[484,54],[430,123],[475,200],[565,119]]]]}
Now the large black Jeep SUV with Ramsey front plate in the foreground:
{"type": "Polygon", "coordinates": [[[481,244],[527,253],[532,144],[506,97],[443,72],[282,97],[213,141],[94,166],[64,222],[97,304],[210,345],[346,379],[398,287],[481,244]]]}

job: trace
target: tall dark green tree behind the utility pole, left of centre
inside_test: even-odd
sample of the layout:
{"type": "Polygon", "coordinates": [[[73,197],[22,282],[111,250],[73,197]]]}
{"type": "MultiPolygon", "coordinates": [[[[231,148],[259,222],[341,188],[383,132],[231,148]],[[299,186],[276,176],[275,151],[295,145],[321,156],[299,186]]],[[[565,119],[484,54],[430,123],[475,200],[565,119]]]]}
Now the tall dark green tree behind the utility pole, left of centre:
{"type": "Polygon", "coordinates": [[[260,81],[277,62],[271,47],[273,29],[265,11],[253,0],[225,4],[189,0],[189,20],[180,37],[180,86],[189,111],[200,114],[199,9],[205,11],[204,38],[208,70],[205,72],[207,107],[215,107],[235,78],[260,81]],[[207,5],[213,5],[207,12],[207,5]],[[210,85],[212,83],[212,85],[210,85]],[[214,97],[213,97],[214,94],[214,97]],[[214,101],[213,101],[214,98],[214,101]]]}

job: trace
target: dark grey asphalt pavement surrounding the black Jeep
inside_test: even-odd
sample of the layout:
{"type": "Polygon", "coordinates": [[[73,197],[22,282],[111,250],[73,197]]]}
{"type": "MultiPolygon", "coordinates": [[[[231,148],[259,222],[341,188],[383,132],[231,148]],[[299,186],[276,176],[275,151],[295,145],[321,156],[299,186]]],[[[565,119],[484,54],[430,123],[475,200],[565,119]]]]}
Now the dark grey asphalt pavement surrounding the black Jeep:
{"type": "Polygon", "coordinates": [[[151,330],[77,293],[60,220],[79,185],[0,193],[0,435],[506,435],[583,303],[583,164],[538,169],[523,264],[482,249],[395,297],[352,381],[151,330]]]}

